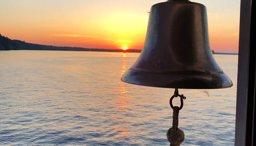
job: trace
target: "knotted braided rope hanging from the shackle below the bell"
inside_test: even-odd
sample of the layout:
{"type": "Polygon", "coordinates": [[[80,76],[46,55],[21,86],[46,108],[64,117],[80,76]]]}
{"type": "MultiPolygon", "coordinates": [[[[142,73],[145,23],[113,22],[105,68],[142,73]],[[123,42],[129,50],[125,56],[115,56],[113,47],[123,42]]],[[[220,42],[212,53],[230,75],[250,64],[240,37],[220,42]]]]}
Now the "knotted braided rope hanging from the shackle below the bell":
{"type": "Polygon", "coordinates": [[[174,107],[173,108],[173,126],[172,128],[168,129],[166,132],[166,136],[168,141],[170,142],[170,146],[180,146],[180,144],[184,141],[185,139],[185,134],[184,132],[178,128],[179,124],[179,107],[174,107]]]}

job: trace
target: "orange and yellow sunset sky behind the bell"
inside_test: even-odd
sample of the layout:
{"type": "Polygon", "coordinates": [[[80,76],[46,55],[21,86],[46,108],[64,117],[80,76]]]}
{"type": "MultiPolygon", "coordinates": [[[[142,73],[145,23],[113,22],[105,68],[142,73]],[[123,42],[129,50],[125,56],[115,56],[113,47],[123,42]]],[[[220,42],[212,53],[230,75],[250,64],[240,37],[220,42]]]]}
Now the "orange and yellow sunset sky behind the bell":
{"type": "MultiPolygon", "coordinates": [[[[0,33],[29,43],[142,49],[153,4],[162,0],[1,0],[0,33]]],[[[238,52],[239,0],[194,0],[208,12],[211,49],[238,52]]]]}

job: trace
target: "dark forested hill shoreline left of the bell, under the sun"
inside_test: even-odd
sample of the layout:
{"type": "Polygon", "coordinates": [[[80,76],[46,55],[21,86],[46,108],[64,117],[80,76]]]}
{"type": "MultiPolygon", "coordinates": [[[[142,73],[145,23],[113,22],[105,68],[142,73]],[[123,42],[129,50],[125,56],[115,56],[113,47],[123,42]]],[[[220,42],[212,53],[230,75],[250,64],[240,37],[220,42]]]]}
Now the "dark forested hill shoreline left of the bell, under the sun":
{"type": "Polygon", "coordinates": [[[58,51],[99,51],[99,52],[141,52],[135,49],[93,49],[81,47],[56,47],[26,43],[25,41],[12,40],[0,34],[0,50],[58,50],[58,51]]]}

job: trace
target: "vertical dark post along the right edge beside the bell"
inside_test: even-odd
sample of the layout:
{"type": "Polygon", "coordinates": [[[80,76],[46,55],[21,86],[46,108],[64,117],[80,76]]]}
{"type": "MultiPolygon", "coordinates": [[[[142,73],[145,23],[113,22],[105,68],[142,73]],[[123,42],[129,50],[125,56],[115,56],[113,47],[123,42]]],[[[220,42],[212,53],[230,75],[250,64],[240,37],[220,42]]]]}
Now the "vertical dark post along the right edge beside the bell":
{"type": "Polygon", "coordinates": [[[241,0],[235,146],[256,145],[256,0],[241,0]]]}

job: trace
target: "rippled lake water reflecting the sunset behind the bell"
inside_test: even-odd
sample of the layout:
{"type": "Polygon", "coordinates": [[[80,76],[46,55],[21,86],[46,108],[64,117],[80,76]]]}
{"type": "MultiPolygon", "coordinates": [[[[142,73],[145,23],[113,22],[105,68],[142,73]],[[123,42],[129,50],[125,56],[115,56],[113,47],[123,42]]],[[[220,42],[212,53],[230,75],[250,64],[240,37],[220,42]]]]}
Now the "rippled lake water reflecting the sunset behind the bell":
{"type": "MultiPolygon", "coordinates": [[[[174,89],[120,81],[138,56],[0,51],[0,145],[169,145],[174,89]]],[[[234,145],[238,56],[214,57],[234,86],[179,90],[182,145],[234,145]]]]}

